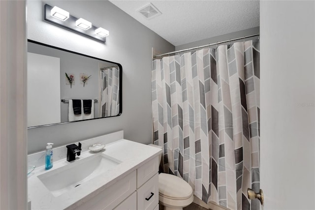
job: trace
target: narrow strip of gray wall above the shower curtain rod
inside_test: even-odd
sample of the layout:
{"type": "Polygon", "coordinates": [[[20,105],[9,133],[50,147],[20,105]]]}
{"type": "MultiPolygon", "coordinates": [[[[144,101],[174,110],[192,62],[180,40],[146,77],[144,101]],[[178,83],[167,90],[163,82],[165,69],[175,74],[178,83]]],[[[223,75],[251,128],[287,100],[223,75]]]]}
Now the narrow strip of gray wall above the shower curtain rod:
{"type": "MultiPolygon", "coordinates": [[[[225,41],[225,40],[229,40],[229,39],[233,39],[233,38],[239,38],[239,37],[258,34],[258,33],[259,33],[259,27],[255,27],[255,28],[251,28],[251,29],[238,31],[238,32],[233,32],[233,33],[226,34],[226,35],[219,35],[219,36],[215,36],[215,37],[211,37],[211,38],[202,39],[199,41],[190,42],[187,44],[182,44],[182,45],[176,46],[175,50],[177,51],[177,50],[189,49],[192,47],[203,46],[203,45],[207,45],[207,44],[216,43],[219,41],[225,41]]],[[[249,40],[249,39],[252,39],[252,38],[247,38],[245,40],[249,40]]]]}

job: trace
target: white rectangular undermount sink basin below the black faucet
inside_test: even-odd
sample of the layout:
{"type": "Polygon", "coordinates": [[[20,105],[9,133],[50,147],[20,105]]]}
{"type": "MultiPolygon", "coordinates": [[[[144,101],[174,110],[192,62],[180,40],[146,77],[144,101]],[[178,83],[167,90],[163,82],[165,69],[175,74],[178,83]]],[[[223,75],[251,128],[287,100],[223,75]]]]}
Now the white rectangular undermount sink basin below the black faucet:
{"type": "Polygon", "coordinates": [[[55,197],[58,197],[120,163],[121,161],[107,155],[97,154],[37,177],[55,197]]]}

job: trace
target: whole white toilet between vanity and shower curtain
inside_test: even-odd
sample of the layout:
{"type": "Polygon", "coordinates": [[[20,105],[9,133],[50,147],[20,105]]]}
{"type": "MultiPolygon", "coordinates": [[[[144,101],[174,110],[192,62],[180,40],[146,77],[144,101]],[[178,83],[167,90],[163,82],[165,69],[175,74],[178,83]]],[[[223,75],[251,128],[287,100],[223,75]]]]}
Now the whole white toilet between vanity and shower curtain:
{"type": "MultiPolygon", "coordinates": [[[[149,144],[162,148],[161,146],[149,144]]],[[[161,161],[162,154],[159,155],[161,161]]],[[[158,175],[158,200],[164,210],[183,210],[193,201],[191,186],[182,178],[161,173],[158,175]]]]}

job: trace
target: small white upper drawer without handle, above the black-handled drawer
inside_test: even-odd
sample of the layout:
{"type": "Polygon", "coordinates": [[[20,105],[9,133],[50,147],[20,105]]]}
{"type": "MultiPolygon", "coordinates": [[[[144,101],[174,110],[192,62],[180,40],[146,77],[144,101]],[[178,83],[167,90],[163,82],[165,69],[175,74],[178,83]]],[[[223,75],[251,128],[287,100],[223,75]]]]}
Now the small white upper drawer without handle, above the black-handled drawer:
{"type": "Polygon", "coordinates": [[[158,156],[137,169],[137,188],[158,173],[158,156]]]}

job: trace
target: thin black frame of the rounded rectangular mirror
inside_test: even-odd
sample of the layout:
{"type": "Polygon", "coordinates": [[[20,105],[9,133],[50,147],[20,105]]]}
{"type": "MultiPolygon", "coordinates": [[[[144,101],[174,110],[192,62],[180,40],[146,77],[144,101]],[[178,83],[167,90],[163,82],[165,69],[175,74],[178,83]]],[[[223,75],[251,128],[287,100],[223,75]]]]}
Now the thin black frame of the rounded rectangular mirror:
{"type": "MultiPolygon", "coordinates": [[[[117,116],[120,116],[122,114],[122,112],[123,112],[123,67],[122,67],[121,64],[116,63],[116,62],[112,62],[112,61],[103,60],[103,59],[100,59],[100,58],[95,58],[93,56],[85,55],[85,54],[82,54],[82,53],[74,52],[74,51],[71,51],[71,50],[63,49],[63,48],[52,46],[52,45],[49,45],[49,44],[44,44],[44,43],[41,43],[41,42],[38,42],[38,41],[34,41],[32,39],[28,39],[28,42],[39,44],[39,45],[43,45],[43,46],[46,46],[46,47],[51,47],[51,48],[54,48],[54,49],[57,49],[57,50],[62,50],[62,51],[65,51],[65,52],[76,54],[76,55],[85,56],[85,57],[88,57],[88,58],[93,58],[93,59],[96,59],[96,60],[99,60],[99,61],[116,64],[119,67],[119,113],[117,115],[115,115],[115,116],[108,116],[108,117],[117,117],[117,116]]],[[[28,127],[28,129],[38,128],[38,127],[45,127],[45,126],[51,126],[51,125],[61,125],[61,124],[66,124],[66,123],[82,122],[82,121],[95,120],[95,119],[108,118],[108,117],[97,117],[97,118],[86,119],[86,120],[77,120],[77,121],[71,121],[71,122],[61,122],[61,123],[53,123],[53,124],[47,124],[47,125],[32,126],[32,127],[28,127]]]]}

